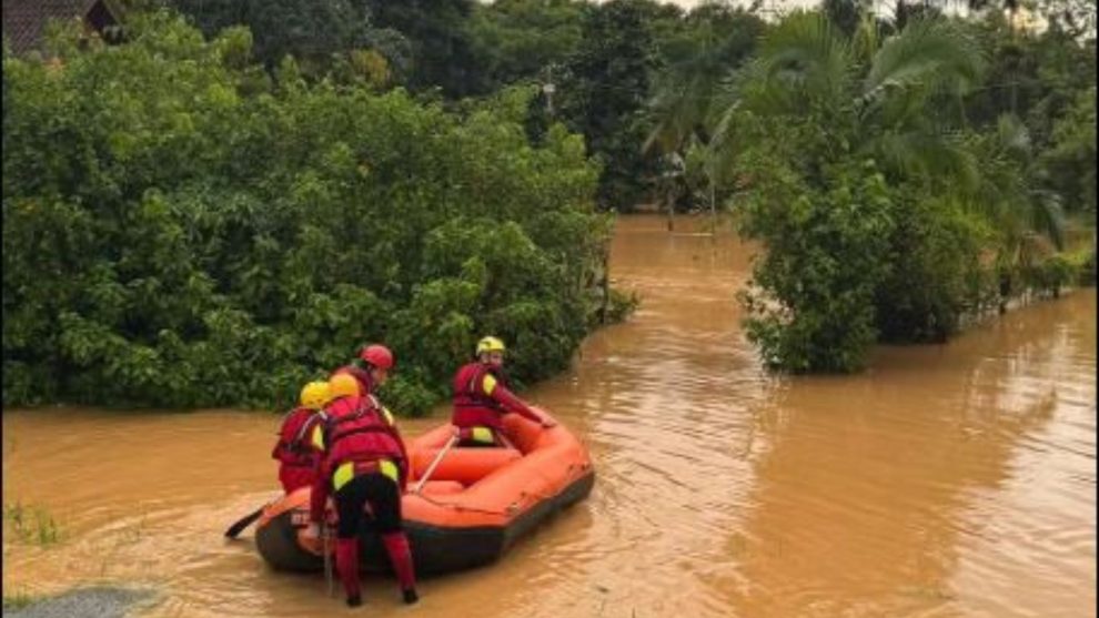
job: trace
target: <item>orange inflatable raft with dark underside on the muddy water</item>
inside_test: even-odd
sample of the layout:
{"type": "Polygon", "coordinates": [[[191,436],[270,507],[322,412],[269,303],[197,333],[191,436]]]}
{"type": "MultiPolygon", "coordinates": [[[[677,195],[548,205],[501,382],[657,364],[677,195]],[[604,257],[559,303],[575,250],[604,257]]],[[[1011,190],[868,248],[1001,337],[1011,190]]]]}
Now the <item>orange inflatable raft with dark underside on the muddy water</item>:
{"type": "MultiPolygon", "coordinates": [[[[513,447],[447,450],[419,494],[414,489],[420,478],[453,428],[446,424],[410,440],[412,479],[401,506],[417,573],[492,563],[547,517],[591,493],[595,470],[587,450],[567,428],[547,429],[510,414],[504,417],[504,434],[513,447]]],[[[300,540],[309,524],[309,494],[305,487],[284,496],[269,505],[258,523],[256,548],[276,569],[324,568],[321,556],[300,540]]],[[[381,540],[369,527],[362,547],[364,570],[389,570],[381,540]]]]}

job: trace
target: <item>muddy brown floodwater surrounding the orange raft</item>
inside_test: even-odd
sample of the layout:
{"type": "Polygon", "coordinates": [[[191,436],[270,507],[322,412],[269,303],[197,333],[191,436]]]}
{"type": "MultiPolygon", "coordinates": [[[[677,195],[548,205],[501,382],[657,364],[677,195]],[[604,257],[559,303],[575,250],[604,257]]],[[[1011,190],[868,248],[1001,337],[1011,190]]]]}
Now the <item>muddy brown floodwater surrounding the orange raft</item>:
{"type": "Polygon", "coordinates": [[[745,247],[664,225],[619,221],[612,274],[641,310],[525,393],[589,446],[595,489],[498,564],[412,608],[366,577],[350,610],[251,530],[221,538],[278,492],[278,417],[13,411],[4,594],[147,586],[150,617],[1096,616],[1093,290],[779,378],[738,325],[745,247]]]}

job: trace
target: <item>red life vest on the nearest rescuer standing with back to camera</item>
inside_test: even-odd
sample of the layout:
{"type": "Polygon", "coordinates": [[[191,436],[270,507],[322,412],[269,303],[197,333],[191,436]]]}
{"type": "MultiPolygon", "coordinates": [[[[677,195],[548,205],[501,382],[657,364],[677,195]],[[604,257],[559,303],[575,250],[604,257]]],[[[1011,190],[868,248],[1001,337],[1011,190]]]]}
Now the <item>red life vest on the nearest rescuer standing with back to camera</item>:
{"type": "MultiPolygon", "coordinates": [[[[339,492],[356,474],[380,472],[401,485],[406,477],[404,445],[393,416],[374,398],[341,397],[325,408],[321,470],[339,492]]],[[[314,435],[316,435],[314,433],[314,435]]]]}

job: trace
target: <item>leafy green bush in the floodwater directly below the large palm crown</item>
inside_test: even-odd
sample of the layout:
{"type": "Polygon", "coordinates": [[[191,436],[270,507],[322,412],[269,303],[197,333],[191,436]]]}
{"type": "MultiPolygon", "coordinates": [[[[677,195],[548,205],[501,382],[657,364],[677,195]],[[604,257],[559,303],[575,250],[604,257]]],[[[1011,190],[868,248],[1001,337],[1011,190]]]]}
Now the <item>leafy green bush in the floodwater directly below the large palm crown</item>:
{"type": "Polygon", "coordinates": [[[765,362],[793,372],[849,372],[877,338],[874,295],[893,230],[893,195],[873,162],[825,172],[829,189],[788,170],[750,168],[758,191],[744,204],[745,232],[767,239],[743,296],[748,337],[765,362]]]}

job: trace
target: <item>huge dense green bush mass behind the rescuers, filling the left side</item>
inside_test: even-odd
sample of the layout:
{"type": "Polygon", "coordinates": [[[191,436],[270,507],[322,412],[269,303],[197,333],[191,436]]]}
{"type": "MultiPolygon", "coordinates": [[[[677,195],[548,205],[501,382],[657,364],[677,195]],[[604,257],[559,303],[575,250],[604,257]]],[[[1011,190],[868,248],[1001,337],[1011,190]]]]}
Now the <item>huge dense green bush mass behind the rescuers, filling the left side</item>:
{"type": "Polygon", "coordinates": [[[609,227],[583,140],[528,144],[532,91],[457,114],[268,80],[245,29],[128,28],[4,54],[4,405],[285,403],[384,341],[416,414],[484,333],[521,381],[568,362],[609,227]]]}

